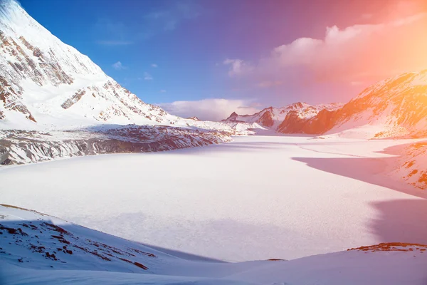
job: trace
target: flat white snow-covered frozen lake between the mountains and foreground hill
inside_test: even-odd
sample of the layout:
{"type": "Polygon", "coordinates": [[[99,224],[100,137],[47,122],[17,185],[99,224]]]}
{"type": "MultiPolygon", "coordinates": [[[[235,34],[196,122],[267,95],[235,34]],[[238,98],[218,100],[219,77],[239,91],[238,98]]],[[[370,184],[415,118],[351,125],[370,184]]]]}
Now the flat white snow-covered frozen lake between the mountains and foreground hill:
{"type": "Polygon", "coordinates": [[[248,136],[2,167],[1,202],[226,261],[427,244],[427,193],[401,180],[389,152],[408,142],[248,136]]]}

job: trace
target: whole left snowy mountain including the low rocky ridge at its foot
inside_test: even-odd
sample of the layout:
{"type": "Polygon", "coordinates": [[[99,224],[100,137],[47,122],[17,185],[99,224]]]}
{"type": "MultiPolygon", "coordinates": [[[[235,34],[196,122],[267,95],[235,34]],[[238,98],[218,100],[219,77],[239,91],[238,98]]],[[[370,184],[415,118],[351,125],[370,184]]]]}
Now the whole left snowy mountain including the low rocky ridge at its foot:
{"type": "Polygon", "coordinates": [[[179,118],[144,103],[16,1],[0,1],[0,165],[209,145],[253,127],[179,118]]]}

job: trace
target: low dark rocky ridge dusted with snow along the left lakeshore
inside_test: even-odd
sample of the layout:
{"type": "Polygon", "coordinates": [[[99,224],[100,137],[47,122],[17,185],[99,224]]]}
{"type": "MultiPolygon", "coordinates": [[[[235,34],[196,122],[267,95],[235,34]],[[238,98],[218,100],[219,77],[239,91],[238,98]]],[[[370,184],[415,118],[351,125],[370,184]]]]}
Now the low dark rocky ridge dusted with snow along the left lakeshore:
{"type": "Polygon", "coordinates": [[[229,135],[217,131],[137,125],[54,133],[1,130],[0,165],[39,162],[58,157],[201,147],[228,142],[231,140],[229,135]],[[58,137],[64,139],[55,139],[58,137]]]}

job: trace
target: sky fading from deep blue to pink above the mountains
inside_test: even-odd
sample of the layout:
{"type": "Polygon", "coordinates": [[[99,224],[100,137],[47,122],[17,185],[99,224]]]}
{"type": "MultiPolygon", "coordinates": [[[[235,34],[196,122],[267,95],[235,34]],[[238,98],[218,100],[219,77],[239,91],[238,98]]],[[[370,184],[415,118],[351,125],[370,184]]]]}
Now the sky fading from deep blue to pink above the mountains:
{"type": "MultiPolygon", "coordinates": [[[[357,74],[371,71],[369,64],[365,71],[356,63],[375,54],[365,54],[364,48],[364,53],[343,50],[337,57],[345,47],[341,39],[370,35],[371,26],[426,11],[423,0],[21,0],[21,5],[145,102],[204,100],[214,108],[214,99],[230,100],[230,108],[222,104],[217,116],[237,107],[251,107],[241,109],[245,113],[296,101],[346,102],[389,76],[385,68],[406,71],[414,63],[384,66],[369,76],[347,74],[345,64],[357,74]],[[334,41],[326,40],[327,31],[334,41]],[[339,45],[327,53],[337,38],[339,45]],[[337,62],[320,68],[329,64],[315,62],[317,54],[337,62]],[[357,60],[346,63],[346,57],[357,60]]],[[[394,58],[396,52],[386,54],[394,58]]]]}

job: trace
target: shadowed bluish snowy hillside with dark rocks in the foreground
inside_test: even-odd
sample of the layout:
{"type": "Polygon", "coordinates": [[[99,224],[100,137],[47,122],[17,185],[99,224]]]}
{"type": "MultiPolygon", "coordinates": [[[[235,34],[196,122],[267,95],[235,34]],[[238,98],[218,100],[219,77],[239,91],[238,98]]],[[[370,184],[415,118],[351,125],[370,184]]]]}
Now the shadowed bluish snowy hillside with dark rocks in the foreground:
{"type": "Polygon", "coordinates": [[[427,279],[427,246],[421,244],[378,244],[290,261],[226,263],[153,249],[4,204],[0,234],[0,281],[10,285],[392,285],[424,284],[427,279]]]}

